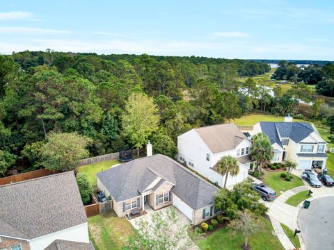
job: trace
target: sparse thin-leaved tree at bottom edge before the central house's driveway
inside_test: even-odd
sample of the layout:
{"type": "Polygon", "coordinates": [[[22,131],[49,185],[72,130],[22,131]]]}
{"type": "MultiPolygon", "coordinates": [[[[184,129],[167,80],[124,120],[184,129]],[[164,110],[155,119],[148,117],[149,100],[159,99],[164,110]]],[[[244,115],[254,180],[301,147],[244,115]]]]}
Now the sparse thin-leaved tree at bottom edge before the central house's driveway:
{"type": "MultiPolygon", "coordinates": [[[[188,226],[180,226],[175,208],[166,213],[152,213],[150,220],[140,219],[123,250],[186,250],[194,247],[187,233],[188,226]]],[[[194,235],[198,237],[198,235],[194,235]]]]}

